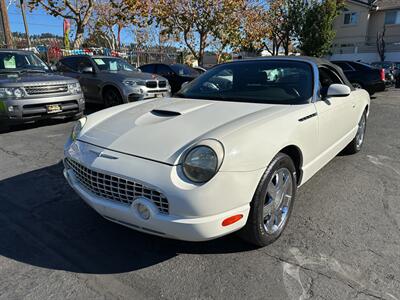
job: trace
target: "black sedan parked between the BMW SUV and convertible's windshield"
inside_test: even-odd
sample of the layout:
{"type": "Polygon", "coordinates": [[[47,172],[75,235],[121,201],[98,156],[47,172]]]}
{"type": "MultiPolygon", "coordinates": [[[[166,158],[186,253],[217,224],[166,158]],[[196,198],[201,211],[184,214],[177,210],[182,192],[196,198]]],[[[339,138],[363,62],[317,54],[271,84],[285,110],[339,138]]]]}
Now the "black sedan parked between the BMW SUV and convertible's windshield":
{"type": "Polygon", "coordinates": [[[168,79],[172,94],[179,91],[182,84],[190,82],[199,76],[199,73],[191,67],[183,64],[147,64],[139,68],[143,72],[158,74],[168,79]]]}

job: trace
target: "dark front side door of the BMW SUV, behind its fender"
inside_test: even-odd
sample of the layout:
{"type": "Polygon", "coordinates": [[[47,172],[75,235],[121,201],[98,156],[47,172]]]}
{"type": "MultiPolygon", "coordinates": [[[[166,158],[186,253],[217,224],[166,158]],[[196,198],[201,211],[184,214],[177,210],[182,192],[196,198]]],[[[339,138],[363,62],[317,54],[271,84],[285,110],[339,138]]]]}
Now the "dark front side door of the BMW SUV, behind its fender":
{"type": "Polygon", "coordinates": [[[83,93],[87,99],[95,102],[101,102],[101,83],[102,80],[97,72],[95,65],[88,57],[80,57],[78,60],[79,82],[81,84],[83,93]],[[91,67],[93,72],[84,72],[85,68],[91,67]]]}

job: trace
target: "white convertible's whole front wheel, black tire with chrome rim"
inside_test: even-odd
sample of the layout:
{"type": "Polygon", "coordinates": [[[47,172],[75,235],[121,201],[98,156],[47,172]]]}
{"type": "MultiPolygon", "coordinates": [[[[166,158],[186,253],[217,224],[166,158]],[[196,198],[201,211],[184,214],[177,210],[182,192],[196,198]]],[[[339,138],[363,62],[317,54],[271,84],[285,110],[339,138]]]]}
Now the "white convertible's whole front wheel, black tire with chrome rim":
{"type": "Polygon", "coordinates": [[[296,168],[284,153],[274,157],[265,171],[240,236],[257,246],[274,242],[285,229],[296,197],[296,168]]]}

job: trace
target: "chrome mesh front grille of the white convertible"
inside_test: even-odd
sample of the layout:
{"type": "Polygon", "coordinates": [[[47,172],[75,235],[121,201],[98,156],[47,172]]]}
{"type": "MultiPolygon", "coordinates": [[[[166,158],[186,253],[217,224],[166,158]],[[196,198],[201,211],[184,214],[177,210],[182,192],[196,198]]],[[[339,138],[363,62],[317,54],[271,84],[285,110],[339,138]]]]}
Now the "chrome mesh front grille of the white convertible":
{"type": "Polygon", "coordinates": [[[81,185],[99,197],[126,205],[131,205],[137,197],[144,197],[152,201],[160,213],[169,213],[167,198],[152,188],[135,181],[93,171],[70,158],[65,159],[65,164],[74,172],[81,185]]]}

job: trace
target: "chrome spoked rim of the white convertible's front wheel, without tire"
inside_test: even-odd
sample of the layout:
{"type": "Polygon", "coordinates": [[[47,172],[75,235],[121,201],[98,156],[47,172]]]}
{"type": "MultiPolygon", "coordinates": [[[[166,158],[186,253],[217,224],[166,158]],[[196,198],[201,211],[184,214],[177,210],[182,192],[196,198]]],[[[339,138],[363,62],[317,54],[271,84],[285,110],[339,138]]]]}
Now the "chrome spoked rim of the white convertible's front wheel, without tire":
{"type": "Polygon", "coordinates": [[[292,196],[293,179],[290,171],[286,168],[278,169],[268,183],[263,207],[264,228],[268,234],[274,234],[285,225],[292,196]]]}

